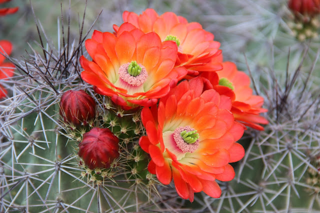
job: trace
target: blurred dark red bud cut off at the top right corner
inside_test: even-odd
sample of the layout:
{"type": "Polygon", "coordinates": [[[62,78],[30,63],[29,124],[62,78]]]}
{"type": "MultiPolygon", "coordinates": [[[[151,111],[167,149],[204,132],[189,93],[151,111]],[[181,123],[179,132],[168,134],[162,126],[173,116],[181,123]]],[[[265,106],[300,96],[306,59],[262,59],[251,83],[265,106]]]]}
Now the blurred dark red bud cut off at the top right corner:
{"type": "Polygon", "coordinates": [[[293,13],[312,16],[320,13],[320,0],[289,0],[288,7],[293,13]]]}

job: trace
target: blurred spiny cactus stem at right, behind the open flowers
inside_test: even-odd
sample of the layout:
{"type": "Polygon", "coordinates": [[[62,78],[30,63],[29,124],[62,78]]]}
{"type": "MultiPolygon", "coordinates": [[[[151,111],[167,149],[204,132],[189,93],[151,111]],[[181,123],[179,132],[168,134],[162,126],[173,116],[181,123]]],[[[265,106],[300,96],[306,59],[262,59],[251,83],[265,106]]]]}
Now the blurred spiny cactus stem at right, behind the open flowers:
{"type": "Polygon", "coordinates": [[[256,85],[258,91],[265,92],[270,123],[265,131],[247,132],[248,139],[242,142],[247,145],[246,154],[237,165],[235,181],[225,184],[220,200],[213,201],[217,211],[319,209],[318,185],[311,183],[318,172],[319,96],[314,86],[318,79],[310,79],[310,71],[301,73],[297,67],[295,74],[276,80],[271,69],[261,73],[268,83],[265,87],[256,85]]]}

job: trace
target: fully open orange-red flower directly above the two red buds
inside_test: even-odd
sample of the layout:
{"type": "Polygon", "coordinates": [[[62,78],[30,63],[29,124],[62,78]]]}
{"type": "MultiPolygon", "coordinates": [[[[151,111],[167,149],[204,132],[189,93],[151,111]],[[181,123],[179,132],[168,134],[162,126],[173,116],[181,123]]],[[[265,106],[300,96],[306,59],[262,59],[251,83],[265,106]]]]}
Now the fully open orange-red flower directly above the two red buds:
{"type": "Polygon", "coordinates": [[[155,104],[187,72],[173,68],[174,41],[162,42],[156,33],[143,33],[130,23],[122,24],[117,36],[95,30],[85,47],[93,61],[80,57],[82,79],[124,109],[155,104]]]}

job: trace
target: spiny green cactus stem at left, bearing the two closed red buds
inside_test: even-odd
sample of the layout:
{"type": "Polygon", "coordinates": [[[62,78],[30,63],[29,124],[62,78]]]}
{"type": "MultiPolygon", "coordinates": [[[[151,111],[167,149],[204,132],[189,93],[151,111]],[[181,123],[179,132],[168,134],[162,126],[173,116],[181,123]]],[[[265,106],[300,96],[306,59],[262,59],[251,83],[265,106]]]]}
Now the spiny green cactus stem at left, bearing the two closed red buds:
{"type": "Polygon", "coordinates": [[[1,100],[1,212],[134,211],[143,207],[141,195],[142,200],[156,201],[152,175],[150,184],[140,181],[147,173],[146,163],[140,162],[145,154],[133,144],[142,132],[138,112],[123,113],[99,96],[99,115],[93,122],[101,120],[117,134],[121,156],[104,170],[88,169],[77,156],[85,128],[95,124],[75,127],[58,112],[63,91],[86,88],[77,61],[82,41],[80,35],[61,51],[41,47],[43,55],[34,51],[28,59],[12,61],[17,67],[13,96],[1,100]]]}

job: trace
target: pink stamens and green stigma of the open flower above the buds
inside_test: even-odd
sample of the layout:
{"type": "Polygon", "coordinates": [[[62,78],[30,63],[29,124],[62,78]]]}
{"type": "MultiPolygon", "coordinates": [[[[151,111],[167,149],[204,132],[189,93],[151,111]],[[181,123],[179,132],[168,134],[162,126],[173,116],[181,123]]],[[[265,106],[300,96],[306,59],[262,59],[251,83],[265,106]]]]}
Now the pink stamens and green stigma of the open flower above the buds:
{"type": "Polygon", "coordinates": [[[119,78],[132,86],[143,84],[148,77],[145,67],[135,60],[122,64],[118,69],[118,74],[119,78]]]}

